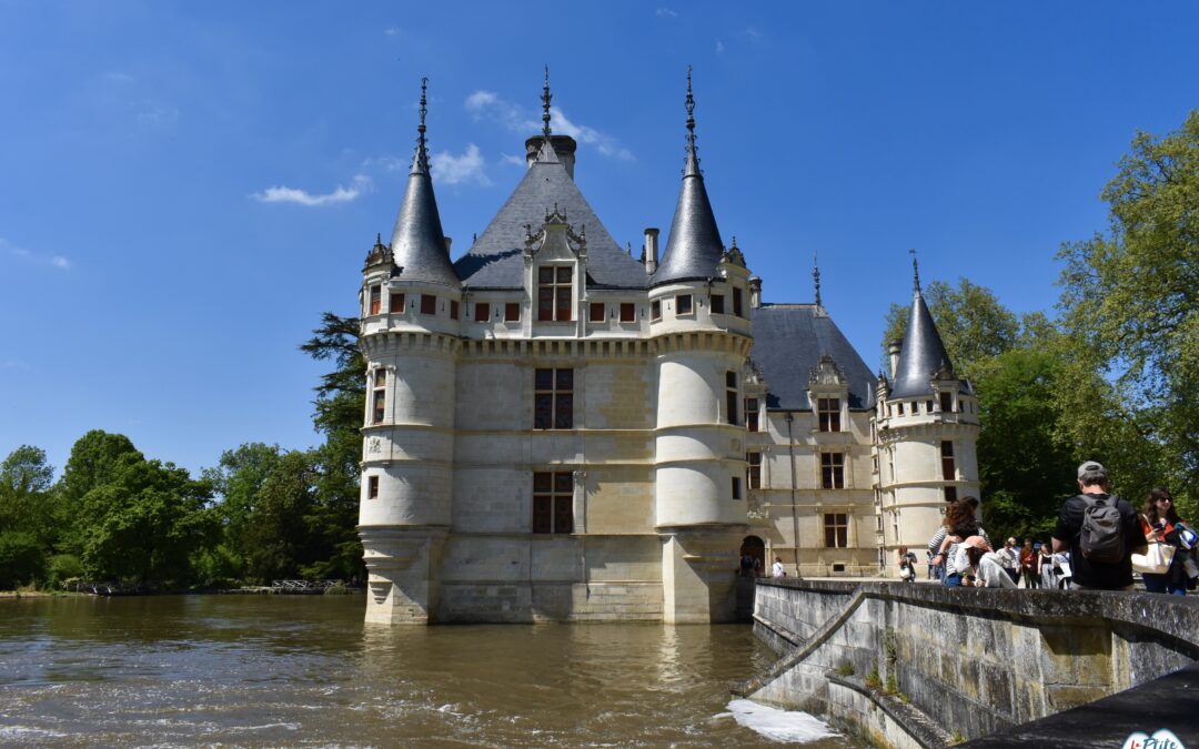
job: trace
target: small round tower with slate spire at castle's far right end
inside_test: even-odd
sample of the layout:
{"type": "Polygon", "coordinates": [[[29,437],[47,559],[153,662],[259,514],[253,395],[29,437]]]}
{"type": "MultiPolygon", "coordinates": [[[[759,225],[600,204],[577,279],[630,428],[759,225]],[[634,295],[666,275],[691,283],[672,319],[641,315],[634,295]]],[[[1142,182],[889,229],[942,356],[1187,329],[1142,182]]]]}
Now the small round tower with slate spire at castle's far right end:
{"type": "Polygon", "coordinates": [[[915,252],[912,276],[906,333],[891,380],[879,377],[875,412],[888,566],[898,546],[928,543],[947,502],[978,496],[978,399],[954,373],[921,296],[915,252]]]}

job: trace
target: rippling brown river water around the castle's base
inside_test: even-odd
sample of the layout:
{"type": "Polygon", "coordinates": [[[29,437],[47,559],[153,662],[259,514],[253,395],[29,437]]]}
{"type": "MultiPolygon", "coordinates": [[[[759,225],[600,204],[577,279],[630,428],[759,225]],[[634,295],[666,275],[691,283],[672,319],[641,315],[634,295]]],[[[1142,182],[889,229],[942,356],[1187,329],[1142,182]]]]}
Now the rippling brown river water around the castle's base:
{"type": "Polygon", "coordinates": [[[384,627],[363,608],[0,600],[0,745],[861,745],[730,696],[773,660],[748,626],[384,627]]]}

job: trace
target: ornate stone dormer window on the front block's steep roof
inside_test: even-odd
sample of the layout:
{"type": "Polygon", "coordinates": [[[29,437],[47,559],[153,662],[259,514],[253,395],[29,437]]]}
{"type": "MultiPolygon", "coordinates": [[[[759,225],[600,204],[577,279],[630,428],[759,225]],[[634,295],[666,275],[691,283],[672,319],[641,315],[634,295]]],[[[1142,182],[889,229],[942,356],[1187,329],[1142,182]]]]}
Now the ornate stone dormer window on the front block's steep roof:
{"type": "Polygon", "coordinates": [[[588,259],[586,228],[576,234],[566,212],[554,206],[537,234],[525,226],[525,262],[536,265],[534,283],[537,295],[537,320],[567,322],[574,320],[574,282],[588,259]],[[580,270],[577,273],[577,268],[580,270]]]}

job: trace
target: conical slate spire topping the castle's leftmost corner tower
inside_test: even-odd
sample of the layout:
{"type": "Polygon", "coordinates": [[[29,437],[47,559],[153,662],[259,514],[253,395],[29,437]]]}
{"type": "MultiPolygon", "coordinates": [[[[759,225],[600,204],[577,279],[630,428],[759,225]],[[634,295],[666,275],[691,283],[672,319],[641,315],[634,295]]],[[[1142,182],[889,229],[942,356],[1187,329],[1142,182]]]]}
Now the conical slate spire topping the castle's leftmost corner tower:
{"type": "Polygon", "coordinates": [[[450,264],[450,249],[441,231],[441,216],[433,194],[433,177],[429,175],[429,153],[424,143],[424,90],[427,78],[421,79],[421,123],[416,128],[416,155],[408,173],[404,201],[399,205],[396,229],[391,234],[391,252],[403,280],[423,280],[447,286],[458,286],[459,279],[450,264]]]}

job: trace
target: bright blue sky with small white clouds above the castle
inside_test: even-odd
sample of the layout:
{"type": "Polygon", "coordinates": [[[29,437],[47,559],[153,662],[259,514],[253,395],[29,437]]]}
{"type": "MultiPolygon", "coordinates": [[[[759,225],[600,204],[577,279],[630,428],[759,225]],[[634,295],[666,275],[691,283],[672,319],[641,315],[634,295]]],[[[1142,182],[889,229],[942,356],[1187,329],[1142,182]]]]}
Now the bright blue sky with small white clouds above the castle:
{"type": "Polygon", "coordinates": [[[909,248],[926,283],[1052,310],[1134,132],[1199,107],[1197,37],[1186,2],[0,0],[0,453],[61,469],[100,428],[198,471],[314,445],[297,345],[356,312],[422,75],[454,256],[522,175],[544,64],[576,180],[637,252],[670,225],[693,65],[725,242],[769,302],[812,301],[818,252],[874,366],[909,248]]]}

